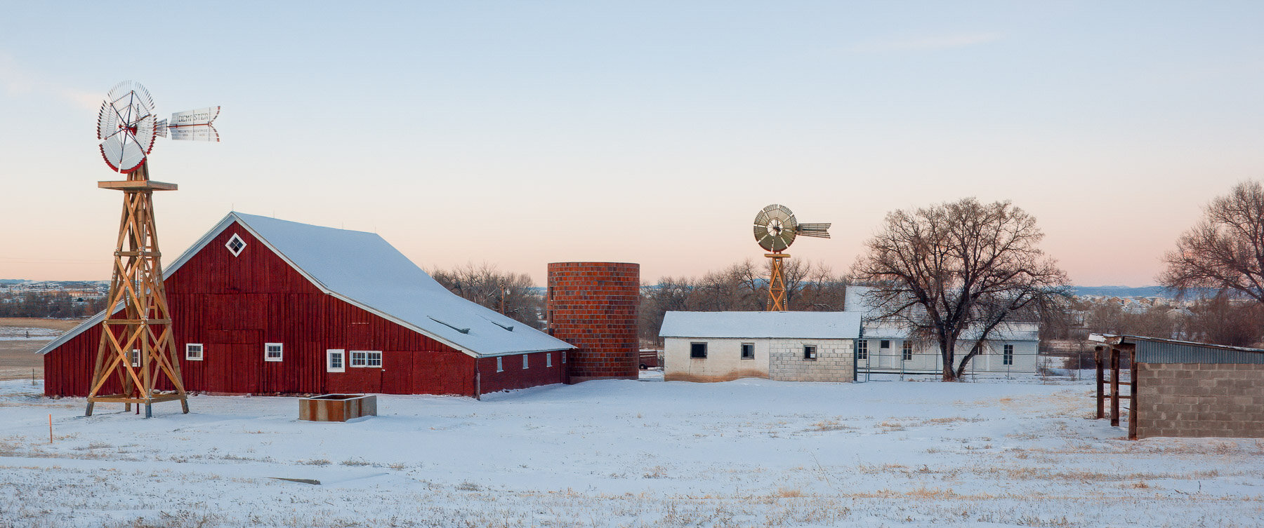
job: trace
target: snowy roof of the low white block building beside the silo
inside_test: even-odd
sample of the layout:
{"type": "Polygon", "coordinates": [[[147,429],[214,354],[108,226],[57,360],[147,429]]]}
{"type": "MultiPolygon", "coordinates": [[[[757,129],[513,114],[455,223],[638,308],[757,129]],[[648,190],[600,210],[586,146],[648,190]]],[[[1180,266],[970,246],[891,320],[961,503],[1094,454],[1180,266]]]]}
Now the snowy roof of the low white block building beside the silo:
{"type": "Polygon", "coordinates": [[[856,339],[860,313],[849,312],[667,312],[660,337],[856,339]]]}

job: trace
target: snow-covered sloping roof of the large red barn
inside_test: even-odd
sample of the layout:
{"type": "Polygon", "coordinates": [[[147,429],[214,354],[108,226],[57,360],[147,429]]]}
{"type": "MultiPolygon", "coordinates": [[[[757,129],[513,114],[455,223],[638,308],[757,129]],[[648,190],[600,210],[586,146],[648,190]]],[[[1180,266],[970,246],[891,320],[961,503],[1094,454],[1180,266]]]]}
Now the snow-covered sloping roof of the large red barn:
{"type": "MultiPolygon", "coordinates": [[[[230,212],[168,265],[163,277],[176,273],[234,222],[239,222],[322,292],[471,356],[574,349],[565,341],[449,292],[374,232],[230,212]]],[[[105,312],[97,313],[49,342],[39,354],[100,325],[104,317],[105,312]]]]}

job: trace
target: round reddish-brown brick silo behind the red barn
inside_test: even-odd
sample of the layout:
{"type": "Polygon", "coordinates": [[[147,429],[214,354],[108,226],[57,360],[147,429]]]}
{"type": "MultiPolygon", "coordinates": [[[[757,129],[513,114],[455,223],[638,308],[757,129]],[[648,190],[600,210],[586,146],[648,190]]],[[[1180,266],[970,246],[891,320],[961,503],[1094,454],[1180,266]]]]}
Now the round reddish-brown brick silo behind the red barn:
{"type": "Polygon", "coordinates": [[[568,383],[637,379],[641,264],[549,264],[549,333],[576,346],[568,383]]]}

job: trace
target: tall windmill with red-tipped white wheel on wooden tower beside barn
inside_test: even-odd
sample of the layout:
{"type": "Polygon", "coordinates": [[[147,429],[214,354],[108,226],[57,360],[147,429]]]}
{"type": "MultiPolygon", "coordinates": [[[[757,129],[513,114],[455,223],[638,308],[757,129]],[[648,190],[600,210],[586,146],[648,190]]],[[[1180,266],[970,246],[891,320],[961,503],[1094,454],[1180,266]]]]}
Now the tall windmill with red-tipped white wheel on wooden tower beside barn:
{"type": "Polygon", "coordinates": [[[126,174],[126,179],[96,184],[123,191],[123,220],[86,416],[92,416],[97,402],[123,403],[126,411],[131,411],[133,403],[143,403],[148,418],[153,416],[154,402],[178,399],[183,412],[188,412],[153,213],[153,192],[176,191],[177,186],[149,179],[148,155],[154,140],[168,133],[176,140],[219,141],[220,135],[211,125],[219,114],[220,107],[212,106],[172,114],[171,121],[158,120],[153,96],[131,81],[115,85],[101,104],[96,126],[101,157],[114,172],[126,174]],[[120,392],[100,394],[111,374],[120,392]],[[161,380],[172,390],[159,393],[161,380]]]}

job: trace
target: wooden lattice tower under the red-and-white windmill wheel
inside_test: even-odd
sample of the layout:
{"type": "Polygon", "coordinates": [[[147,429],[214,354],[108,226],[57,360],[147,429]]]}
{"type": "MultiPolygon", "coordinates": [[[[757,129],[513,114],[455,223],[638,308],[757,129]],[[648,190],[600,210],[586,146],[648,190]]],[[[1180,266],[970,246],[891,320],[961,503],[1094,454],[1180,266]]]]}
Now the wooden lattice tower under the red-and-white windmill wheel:
{"type": "Polygon", "coordinates": [[[126,181],[97,182],[97,187],[123,191],[124,197],[114,273],[85,414],[92,416],[96,402],[123,403],[126,411],[135,403],[138,412],[140,404],[145,405],[145,418],[149,418],[154,402],[176,399],[188,413],[153,213],[153,192],[174,191],[177,187],[149,181],[149,162],[143,162],[129,173],[126,181]],[[115,312],[120,306],[121,309],[115,312]],[[135,365],[133,350],[138,351],[135,365]],[[118,375],[121,393],[101,394],[110,374],[118,375]],[[171,383],[174,394],[157,394],[159,376],[171,383]]]}

